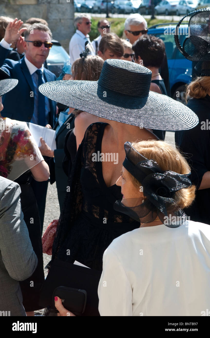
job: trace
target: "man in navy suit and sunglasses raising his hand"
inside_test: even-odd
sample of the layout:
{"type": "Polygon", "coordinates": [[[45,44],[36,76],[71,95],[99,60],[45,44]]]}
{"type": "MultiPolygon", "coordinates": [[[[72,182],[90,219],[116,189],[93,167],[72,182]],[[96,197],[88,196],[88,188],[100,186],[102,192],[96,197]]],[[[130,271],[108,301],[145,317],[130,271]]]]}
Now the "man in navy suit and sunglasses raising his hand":
{"type": "MultiPolygon", "coordinates": [[[[38,91],[40,84],[56,79],[56,76],[43,66],[52,46],[52,33],[46,25],[40,23],[20,29],[22,23],[21,20],[17,21],[17,18],[10,22],[0,42],[0,67],[11,78],[18,79],[18,85],[3,96],[4,109],[1,114],[3,117],[53,128],[57,121],[56,102],[38,91]],[[25,31],[25,41],[23,41],[25,56],[20,61],[7,59],[10,45],[23,31],[25,31]]],[[[37,199],[42,227],[47,184],[47,181],[35,180],[31,183],[37,199]]]]}

